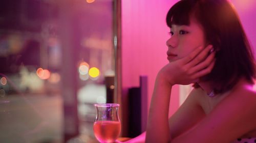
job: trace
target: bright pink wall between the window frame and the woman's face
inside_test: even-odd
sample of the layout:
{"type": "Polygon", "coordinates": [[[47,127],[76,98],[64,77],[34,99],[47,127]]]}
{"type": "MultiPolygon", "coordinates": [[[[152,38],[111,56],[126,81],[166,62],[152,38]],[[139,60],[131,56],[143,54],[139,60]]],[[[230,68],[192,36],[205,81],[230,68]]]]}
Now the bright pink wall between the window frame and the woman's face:
{"type": "MultiPolygon", "coordinates": [[[[139,76],[148,76],[148,106],[157,72],[168,63],[166,59],[168,27],[165,16],[177,1],[122,1],[122,98],[127,88],[139,85],[139,76]]],[[[172,110],[178,108],[179,89],[172,94],[172,110]]],[[[124,117],[125,118],[125,117],[124,117]]]]}

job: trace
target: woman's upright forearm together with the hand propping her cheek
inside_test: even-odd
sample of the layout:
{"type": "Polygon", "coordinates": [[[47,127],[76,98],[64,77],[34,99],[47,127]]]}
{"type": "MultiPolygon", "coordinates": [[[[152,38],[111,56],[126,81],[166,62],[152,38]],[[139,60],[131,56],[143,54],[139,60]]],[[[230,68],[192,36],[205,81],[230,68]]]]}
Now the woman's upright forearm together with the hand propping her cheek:
{"type": "Polygon", "coordinates": [[[189,84],[208,74],[214,66],[214,53],[207,54],[212,46],[197,48],[181,60],[163,67],[156,77],[148,115],[146,142],[169,142],[168,126],[170,93],[174,84],[189,84]],[[205,59],[206,58],[206,59],[205,59]]]}

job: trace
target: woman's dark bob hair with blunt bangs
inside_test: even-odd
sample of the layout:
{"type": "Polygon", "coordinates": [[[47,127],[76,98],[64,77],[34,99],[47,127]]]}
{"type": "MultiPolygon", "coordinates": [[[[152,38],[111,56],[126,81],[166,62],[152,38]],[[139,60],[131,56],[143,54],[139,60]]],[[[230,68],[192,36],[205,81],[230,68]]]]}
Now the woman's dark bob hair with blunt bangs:
{"type": "Polygon", "coordinates": [[[166,23],[189,25],[191,17],[201,24],[206,43],[216,49],[215,66],[202,80],[211,81],[216,94],[232,89],[241,77],[254,83],[254,56],[233,6],[227,0],[181,0],[168,11],[166,23]]]}

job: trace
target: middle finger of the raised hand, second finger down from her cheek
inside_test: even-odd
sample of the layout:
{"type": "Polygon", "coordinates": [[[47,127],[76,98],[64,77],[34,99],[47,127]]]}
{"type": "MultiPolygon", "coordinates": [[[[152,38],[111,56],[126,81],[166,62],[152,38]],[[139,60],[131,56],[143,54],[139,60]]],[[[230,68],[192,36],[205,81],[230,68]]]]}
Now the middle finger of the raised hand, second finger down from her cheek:
{"type": "Polygon", "coordinates": [[[205,60],[206,56],[209,54],[210,51],[213,51],[212,45],[206,46],[192,61],[187,63],[186,66],[194,67],[205,60]]]}

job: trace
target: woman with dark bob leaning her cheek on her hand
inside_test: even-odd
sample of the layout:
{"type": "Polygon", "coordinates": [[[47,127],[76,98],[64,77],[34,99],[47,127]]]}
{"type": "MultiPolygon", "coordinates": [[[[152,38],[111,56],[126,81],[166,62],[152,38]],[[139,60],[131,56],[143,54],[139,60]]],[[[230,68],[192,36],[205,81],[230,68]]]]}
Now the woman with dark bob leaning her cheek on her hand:
{"type": "Polygon", "coordinates": [[[166,22],[169,64],[157,75],[146,133],[127,142],[256,142],[255,61],[231,4],[182,0],[166,22]],[[168,119],[173,85],[190,83],[168,119]]]}

